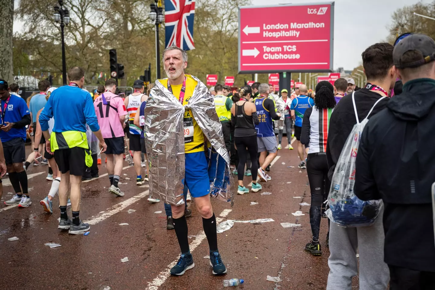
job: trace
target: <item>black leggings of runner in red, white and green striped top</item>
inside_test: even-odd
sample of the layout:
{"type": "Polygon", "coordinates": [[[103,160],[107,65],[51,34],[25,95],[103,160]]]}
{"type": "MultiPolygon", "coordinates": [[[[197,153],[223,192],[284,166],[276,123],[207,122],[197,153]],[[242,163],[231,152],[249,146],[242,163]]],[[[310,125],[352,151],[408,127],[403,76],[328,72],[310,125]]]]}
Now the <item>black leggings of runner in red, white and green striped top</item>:
{"type": "MultiPolygon", "coordinates": [[[[319,240],[321,207],[331,187],[328,179],[328,162],[326,155],[310,153],[307,157],[307,173],[311,190],[310,224],[313,240],[319,240]]],[[[329,220],[328,220],[329,222],[329,220]]]]}

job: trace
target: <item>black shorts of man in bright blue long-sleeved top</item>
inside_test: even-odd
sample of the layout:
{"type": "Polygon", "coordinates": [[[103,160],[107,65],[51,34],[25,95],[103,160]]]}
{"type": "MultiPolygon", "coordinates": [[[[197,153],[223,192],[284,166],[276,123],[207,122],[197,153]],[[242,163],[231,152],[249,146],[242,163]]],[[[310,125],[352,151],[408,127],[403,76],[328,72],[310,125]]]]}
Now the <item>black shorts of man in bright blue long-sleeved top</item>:
{"type": "Polygon", "coordinates": [[[82,176],[86,167],[86,152],[84,148],[73,147],[54,151],[54,160],[62,174],[70,172],[70,175],[82,176]]]}

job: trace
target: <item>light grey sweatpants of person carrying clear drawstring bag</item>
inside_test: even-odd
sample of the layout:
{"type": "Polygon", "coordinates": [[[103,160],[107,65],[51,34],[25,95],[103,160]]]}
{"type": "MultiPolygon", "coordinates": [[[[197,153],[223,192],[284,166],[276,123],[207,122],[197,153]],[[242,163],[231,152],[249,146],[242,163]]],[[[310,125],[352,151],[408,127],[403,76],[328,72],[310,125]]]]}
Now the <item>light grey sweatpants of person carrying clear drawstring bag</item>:
{"type": "Polygon", "coordinates": [[[331,223],[329,229],[329,275],[326,290],[351,290],[352,277],[358,274],[359,289],[385,290],[390,272],[384,262],[384,226],[382,216],[369,227],[340,227],[331,223]]]}

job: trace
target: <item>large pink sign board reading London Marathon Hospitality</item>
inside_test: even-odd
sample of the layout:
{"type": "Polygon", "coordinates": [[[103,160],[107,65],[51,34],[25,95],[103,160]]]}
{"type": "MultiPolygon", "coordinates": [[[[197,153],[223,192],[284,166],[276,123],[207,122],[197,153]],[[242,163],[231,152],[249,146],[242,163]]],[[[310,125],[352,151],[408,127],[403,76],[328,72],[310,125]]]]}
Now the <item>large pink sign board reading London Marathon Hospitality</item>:
{"type": "Polygon", "coordinates": [[[239,73],[331,72],[333,40],[334,2],[240,7],[239,73]]]}

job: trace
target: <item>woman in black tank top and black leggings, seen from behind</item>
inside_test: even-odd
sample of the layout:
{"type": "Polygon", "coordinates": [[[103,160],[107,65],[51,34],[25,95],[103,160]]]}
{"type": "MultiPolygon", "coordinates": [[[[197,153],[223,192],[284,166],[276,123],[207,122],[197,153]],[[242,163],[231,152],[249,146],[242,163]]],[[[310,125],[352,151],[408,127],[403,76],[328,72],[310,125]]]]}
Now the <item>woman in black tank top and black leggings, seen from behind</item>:
{"type": "MultiPolygon", "coordinates": [[[[257,109],[254,103],[248,102],[251,98],[251,88],[245,86],[240,90],[240,100],[231,108],[231,122],[234,129],[234,144],[238,150],[239,164],[237,168],[239,194],[248,193],[249,190],[243,185],[244,167],[249,156],[251,157],[252,172],[258,170],[257,162],[257,130],[254,124],[258,124],[257,109]]],[[[261,190],[261,185],[256,182],[257,174],[252,174],[252,191],[261,190]]]]}

